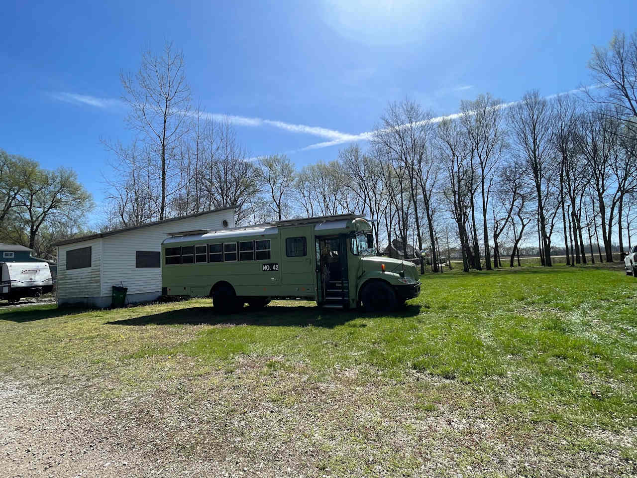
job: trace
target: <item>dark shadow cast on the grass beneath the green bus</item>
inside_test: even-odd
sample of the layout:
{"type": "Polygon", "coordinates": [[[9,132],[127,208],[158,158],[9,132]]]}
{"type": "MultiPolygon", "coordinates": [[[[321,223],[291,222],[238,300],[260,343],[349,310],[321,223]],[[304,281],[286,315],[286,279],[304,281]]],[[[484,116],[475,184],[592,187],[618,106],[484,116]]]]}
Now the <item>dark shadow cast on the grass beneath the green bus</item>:
{"type": "MultiPolygon", "coordinates": [[[[131,317],[106,322],[107,325],[254,325],[264,327],[324,327],[334,328],[349,321],[365,317],[412,317],[418,315],[420,305],[404,305],[390,314],[371,314],[360,310],[324,310],[319,307],[285,307],[272,305],[261,310],[245,308],[239,314],[221,315],[212,307],[192,307],[169,310],[160,314],[131,317]]],[[[361,326],[366,326],[361,324],[361,326]]]]}

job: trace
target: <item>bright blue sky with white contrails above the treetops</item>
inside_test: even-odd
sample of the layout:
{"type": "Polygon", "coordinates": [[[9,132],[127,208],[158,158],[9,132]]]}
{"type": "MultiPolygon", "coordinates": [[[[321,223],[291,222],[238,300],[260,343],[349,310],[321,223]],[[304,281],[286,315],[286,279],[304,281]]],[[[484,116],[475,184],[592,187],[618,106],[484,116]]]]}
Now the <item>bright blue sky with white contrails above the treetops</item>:
{"type": "Polygon", "coordinates": [[[5,1],[3,17],[0,148],[75,169],[99,205],[100,138],[131,137],[119,73],[166,40],[183,49],[194,98],[238,117],[253,156],[302,166],[335,159],[389,101],[446,115],[483,92],[514,101],[589,84],[592,45],[633,31],[637,2],[5,1]],[[339,144],[303,150],[326,141],[339,144]]]}

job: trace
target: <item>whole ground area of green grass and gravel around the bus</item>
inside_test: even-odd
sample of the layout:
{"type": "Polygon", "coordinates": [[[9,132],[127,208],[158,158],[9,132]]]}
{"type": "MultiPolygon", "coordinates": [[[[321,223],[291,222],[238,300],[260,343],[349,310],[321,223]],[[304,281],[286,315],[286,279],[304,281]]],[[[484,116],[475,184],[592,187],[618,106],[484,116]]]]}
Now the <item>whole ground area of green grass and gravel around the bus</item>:
{"type": "Polygon", "coordinates": [[[389,316],[0,310],[0,475],[637,475],[637,279],[422,282],[389,316]]]}

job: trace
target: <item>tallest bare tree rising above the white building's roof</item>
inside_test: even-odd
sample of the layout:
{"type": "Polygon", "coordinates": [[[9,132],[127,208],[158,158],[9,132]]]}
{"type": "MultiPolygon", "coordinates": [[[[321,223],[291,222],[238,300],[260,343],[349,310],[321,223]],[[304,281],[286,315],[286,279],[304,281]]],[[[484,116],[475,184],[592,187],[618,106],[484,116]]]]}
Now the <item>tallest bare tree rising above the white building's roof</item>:
{"type": "Polygon", "coordinates": [[[137,131],[153,153],[153,165],[160,182],[159,220],[166,215],[170,155],[189,131],[190,87],[184,73],[183,52],[166,43],[161,55],[144,52],[135,75],[120,75],[124,95],[130,106],[127,122],[137,131]]]}

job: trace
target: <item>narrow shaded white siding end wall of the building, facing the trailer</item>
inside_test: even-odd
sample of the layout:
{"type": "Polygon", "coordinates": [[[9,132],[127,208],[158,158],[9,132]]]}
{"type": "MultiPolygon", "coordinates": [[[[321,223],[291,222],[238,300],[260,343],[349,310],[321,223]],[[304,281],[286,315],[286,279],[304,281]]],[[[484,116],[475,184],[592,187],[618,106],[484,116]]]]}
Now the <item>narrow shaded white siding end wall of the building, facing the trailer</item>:
{"type": "Polygon", "coordinates": [[[99,272],[102,238],[61,245],[57,248],[57,296],[59,298],[97,297],[100,295],[99,272]],[[91,247],[90,267],[66,270],[66,251],[91,247]]]}

